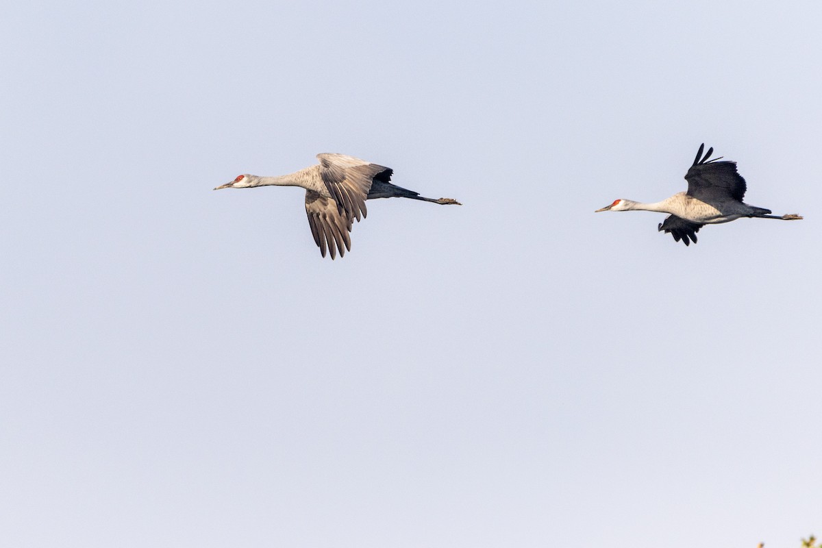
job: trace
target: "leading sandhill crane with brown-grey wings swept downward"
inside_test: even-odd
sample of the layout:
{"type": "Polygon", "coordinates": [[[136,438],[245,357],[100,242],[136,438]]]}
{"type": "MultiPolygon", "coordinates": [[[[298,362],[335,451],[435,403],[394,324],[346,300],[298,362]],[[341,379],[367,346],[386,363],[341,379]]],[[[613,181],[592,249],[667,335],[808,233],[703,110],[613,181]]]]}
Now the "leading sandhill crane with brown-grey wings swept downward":
{"type": "Polygon", "coordinates": [[[245,173],[232,182],[216,187],[249,188],[275,185],[277,187],[302,187],[306,189],[306,213],[314,242],[320,246],[322,256],[326,248],[334,259],[351,251],[349,233],[353,219],[359,222],[367,210],[365,200],[374,198],[411,198],[441,205],[461,205],[450,198],[426,198],[418,192],[391,184],[391,168],[346,156],[345,154],[317,154],[319,165],[301,169],[289,175],[259,177],[245,173]]]}

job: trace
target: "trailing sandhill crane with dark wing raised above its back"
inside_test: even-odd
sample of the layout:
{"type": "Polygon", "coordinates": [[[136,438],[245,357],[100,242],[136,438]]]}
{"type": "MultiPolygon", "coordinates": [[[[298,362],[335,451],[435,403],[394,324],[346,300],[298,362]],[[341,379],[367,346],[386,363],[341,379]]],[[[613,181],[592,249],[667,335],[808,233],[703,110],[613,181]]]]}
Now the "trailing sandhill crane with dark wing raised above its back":
{"type": "Polygon", "coordinates": [[[690,166],[685,179],[688,191],[679,192],[653,204],[643,204],[632,200],[614,200],[600,211],[658,211],[669,213],[658,230],[671,233],[677,242],[682,240],[690,245],[696,243],[696,233],[705,224],[728,223],[741,217],[758,217],[760,219],[783,219],[792,221],[801,219],[800,215],[787,214],[782,217],[770,215],[770,210],[742,203],[745,196],[745,179],[737,172],[737,163],[718,162],[722,156],[709,160],[713,148],[702,156],[705,144],[700,145],[696,159],[690,166]]]}

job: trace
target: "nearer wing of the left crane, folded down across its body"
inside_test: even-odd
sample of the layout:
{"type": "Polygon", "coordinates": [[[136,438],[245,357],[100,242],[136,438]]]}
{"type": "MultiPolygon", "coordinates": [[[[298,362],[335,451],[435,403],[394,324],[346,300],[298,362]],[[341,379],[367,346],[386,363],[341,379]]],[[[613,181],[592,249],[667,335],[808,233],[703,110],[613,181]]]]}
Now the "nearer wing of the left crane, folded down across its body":
{"type": "Polygon", "coordinates": [[[317,154],[316,157],[320,160],[322,182],[337,203],[339,214],[356,217],[358,221],[368,213],[365,200],[372,181],[379,178],[388,182],[393,173],[385,166],[345,154],[317,154]]]}

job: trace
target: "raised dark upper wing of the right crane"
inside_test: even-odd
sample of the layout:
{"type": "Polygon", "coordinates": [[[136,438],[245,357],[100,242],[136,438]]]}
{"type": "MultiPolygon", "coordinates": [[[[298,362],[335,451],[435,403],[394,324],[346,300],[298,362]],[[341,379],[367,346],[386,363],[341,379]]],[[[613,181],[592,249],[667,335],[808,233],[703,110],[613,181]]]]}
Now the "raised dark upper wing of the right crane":
{"type": "Polygon", "coordinates": [[[708,149],[703,157],[704,148],[703,143],[700,145],[699,152],[696,153],[694,164],[690,166],[685,175],[685,180],[688,182],[688,196],[694,196],[706,202],[729,198],[742,201],[746,184],[745,179],[737,172],[737,163],[718,162],[719,158],[709,159],[713,148],[708,149]]]}

